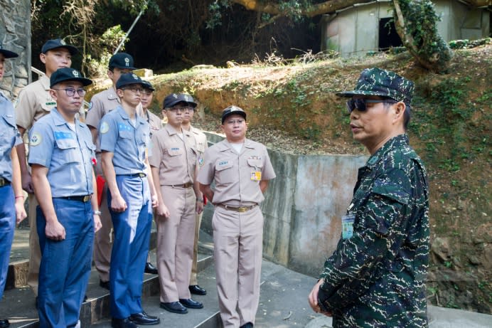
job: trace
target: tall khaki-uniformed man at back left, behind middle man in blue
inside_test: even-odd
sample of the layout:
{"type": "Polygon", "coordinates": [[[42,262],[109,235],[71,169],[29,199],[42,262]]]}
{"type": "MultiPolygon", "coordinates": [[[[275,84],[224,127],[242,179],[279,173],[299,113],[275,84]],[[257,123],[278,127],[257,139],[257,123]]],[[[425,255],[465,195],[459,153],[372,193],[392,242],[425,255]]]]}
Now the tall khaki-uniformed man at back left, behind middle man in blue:
{"type": "MultiPolygon", "coordinates": [[[[75,46],[70,46],[62,39],[48,40],[41,48],[39,58],[44,63],[46,75],[39,80],[26,85],[18,95],[16,104],[16,125],[21,135],[41,117],[50,113],[55,107],[56,102],[50,96],[50,77],[58,68],[70,68],[72,56],[78,53],[75,46]]],[[[83,118],[83,117],[82,117],[83,118]]],[[[18,161],[21,165],[22,188],[28,192],[29,203],[29,270],[28,285],[38,297],[38,276],[39,265],[41,263],[41,250],[39,248],[39,238],[36,228],[36,206],[38,201],[34,196],[31,171],[26,162],[26,146],[17,146],[18,161]]]]}

